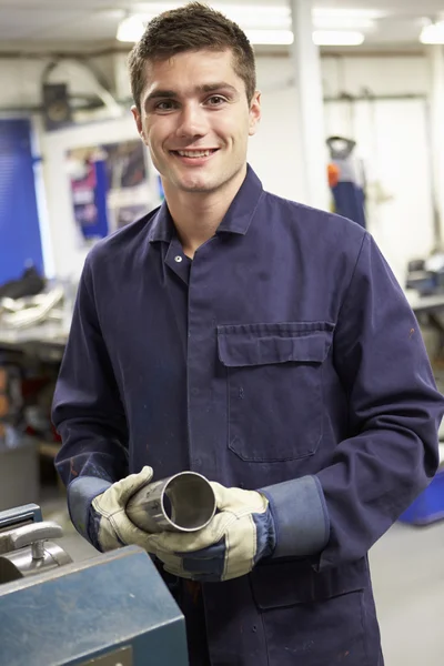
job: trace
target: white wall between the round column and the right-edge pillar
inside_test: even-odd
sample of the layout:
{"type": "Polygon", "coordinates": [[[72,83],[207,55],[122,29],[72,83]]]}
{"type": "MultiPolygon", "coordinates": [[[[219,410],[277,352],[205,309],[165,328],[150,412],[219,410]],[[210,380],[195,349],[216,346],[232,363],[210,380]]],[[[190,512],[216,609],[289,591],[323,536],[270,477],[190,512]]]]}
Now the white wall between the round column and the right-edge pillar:
{"type": "Polygon", "coordinates": [[[434,246],[431,82],[422,56],[323,60],[325,97],[367,97],[326,102],[325,129],[357,141],[369,180],[369,230],[401,283],[407,262],[434,246]]]}

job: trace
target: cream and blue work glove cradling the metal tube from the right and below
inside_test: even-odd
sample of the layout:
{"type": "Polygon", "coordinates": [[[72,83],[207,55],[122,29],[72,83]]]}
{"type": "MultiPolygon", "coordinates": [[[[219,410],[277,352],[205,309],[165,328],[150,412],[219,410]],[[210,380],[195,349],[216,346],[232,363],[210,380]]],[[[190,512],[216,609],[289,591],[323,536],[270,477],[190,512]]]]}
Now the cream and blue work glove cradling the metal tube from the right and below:
{"type": "Polygon", "coordinates": [[[202,583],[244,576],[275,546],[269,501],[255,491],[211,483],[218,513],[199,532],[163,532],[149,536],[144,547],[175,576],[202,583]]]}

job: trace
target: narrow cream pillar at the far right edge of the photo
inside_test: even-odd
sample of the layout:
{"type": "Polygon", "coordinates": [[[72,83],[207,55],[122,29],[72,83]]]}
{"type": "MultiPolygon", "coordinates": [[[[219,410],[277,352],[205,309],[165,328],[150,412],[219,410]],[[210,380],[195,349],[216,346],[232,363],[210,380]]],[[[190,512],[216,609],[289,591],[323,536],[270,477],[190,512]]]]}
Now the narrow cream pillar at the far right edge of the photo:
{"type": "Polygon", "coordinates": [[[431,73],[431,151],[436,249],[444,250],[444,47],[428,49],[431,73]]]}

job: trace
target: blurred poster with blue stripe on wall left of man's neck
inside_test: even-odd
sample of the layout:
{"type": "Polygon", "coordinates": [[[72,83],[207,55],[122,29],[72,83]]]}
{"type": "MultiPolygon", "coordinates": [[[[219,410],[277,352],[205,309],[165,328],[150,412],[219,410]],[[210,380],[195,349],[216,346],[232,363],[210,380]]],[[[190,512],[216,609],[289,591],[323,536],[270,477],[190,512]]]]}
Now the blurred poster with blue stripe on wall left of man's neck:
{"type": "Polygon", "coordinates": [[[74,219],[85,240],[97,240],[151,211],[145,149],[139,140],[67,153],[74,219]]]}

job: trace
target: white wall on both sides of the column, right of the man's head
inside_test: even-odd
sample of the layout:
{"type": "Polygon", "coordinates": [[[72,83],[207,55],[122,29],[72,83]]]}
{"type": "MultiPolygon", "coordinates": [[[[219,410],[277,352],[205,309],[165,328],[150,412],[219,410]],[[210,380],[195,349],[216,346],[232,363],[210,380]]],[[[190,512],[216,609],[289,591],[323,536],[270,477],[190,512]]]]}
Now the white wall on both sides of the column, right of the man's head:
{"type": "MultiPolygon", "coordinates": [[[[258,64],[263,120],[251,142],[251,163],[266,189],[297,200],[301,161],[291,62],[264,58],[258,64]]],[[[403,284],[407,262],[433,249],[432,176],[426,101],[395,98],[427,94],[427,62],[421,57],[324,58],[322,65],[330,98],[360,95],[364,89],[393,98],[327,101],[325,131],[356,140],[369,181],[367,228],[403,284]]]]}

